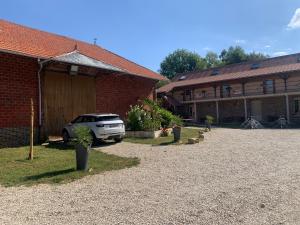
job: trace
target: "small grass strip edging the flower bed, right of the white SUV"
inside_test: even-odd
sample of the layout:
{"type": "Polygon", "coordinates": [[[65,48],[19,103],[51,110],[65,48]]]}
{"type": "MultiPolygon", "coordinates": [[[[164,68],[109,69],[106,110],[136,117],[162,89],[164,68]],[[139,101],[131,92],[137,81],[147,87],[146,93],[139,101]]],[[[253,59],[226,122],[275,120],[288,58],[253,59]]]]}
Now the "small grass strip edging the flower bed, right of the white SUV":
{"type": "MultiPolygon", "coordinates": [[[[188,138],[196,138],[199,136],[200,129],[192,129],[192,128],[182,128],[181,130],[181,142],[183,144],[187,144],[188,138]]],[[[203,129],[202,129],[203,130],[203,129]]],[[[124,141],[131,143],[139,143],[139,144],[149,144],[149,145],[169,145],[176,144],[173,141],[173,134],[168,137],[159,137],[159,138],[125,138],[124,141]]]]}

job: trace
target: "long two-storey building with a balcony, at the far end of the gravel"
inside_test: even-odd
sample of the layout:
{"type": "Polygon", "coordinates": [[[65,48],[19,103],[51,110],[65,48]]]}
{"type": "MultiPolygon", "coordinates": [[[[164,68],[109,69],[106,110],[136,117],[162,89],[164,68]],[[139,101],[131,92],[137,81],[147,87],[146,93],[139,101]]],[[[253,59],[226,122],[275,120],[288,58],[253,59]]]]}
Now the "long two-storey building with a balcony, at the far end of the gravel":
{"type": "Polygon", "coordinates": [[[300,53],[178,74],[157,90],[171,110],[203,123],[219,124],[253,117],[266,126],[285,118],[300,125],[300,53]]]}

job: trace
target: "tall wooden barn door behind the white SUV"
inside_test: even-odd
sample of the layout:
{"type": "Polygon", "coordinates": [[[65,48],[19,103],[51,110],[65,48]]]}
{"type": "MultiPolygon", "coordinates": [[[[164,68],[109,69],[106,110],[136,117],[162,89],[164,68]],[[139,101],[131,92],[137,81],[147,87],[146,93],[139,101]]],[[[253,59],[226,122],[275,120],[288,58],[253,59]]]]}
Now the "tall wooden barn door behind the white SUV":
{"type": "Polygon", "coordinates": [[[95,78],[46,72],[44,80],[44,131],[61,135],[76,116],[96,112],[95,78]]]}

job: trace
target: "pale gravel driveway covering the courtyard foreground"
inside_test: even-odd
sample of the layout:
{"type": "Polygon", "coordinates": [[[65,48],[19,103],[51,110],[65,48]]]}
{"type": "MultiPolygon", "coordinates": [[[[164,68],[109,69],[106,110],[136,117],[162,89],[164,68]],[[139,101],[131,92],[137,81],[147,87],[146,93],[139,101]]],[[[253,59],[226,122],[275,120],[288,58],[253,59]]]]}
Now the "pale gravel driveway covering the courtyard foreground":
{"type": "Polygon", "coordinates": [[[214,129],[197,145],[121,143],[138,167],[0,187],[0,224],[300,224],[300,130],[214,129]]]}

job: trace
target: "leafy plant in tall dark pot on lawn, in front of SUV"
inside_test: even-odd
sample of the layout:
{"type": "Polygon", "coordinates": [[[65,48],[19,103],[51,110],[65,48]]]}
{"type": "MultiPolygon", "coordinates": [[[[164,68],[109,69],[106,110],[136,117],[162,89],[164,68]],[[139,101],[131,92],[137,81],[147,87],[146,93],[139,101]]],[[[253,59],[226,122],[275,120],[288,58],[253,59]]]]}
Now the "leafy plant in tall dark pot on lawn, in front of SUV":
{"type": "Polygon", "coordinates": [[[78,126],[74,129],[75,150],[76,150],[76,169],[88,170],[89,151],[93,142],[91,130],[85,126],[78,126]]]}

